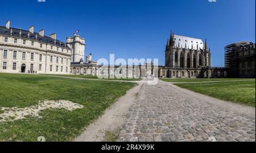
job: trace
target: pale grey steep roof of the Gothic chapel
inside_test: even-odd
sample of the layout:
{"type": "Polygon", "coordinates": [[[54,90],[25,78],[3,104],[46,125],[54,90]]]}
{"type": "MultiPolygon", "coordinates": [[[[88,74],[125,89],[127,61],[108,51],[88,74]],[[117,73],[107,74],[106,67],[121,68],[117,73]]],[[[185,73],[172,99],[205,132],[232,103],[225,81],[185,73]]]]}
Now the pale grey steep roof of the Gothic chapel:
{"type": "Polygon", "coordinates": [[[204,48],[204,43],[202,39],[191,38],[188,36],[174,35],[174,42],[175,42],[175,47],[180,46],[180,48],[191,49],[193,46],[193,49],[197,49],[197,45],[198,45],[199,49],[204,48]]]}

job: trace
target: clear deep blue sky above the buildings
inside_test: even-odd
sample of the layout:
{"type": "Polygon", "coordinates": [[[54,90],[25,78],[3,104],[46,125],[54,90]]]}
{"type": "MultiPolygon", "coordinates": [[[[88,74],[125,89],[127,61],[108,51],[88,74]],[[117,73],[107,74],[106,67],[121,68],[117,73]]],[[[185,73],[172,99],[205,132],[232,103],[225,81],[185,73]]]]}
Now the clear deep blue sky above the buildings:
{"type": "Polygon", "coordinates": [[[212,66],[224,66],[224,46],[241,40],[255,43],[255,0],[1,0],[1,25],[46,35],[57,33],[65,41],[75,30],[86,38],[86,55],[93,59],[158,58],[170,31],[208,39],[212,66]]]}

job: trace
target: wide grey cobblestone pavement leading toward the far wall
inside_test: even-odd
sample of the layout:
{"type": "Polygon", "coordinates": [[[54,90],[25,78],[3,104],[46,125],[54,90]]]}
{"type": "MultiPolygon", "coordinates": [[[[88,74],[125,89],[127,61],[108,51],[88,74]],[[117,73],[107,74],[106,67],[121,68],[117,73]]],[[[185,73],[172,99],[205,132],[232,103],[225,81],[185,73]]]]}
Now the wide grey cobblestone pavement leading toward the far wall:
{"type": "Polygon", "coordinates": [[[247,111],[247,106],[224,101],[225,106],[215,104],[219,100],[162,81],[143,84],[138,97],[126,115],[119,141],[255,142],[255,108],[247,111]],[[241,107],[246,109],[239,111],[241,107]]]}

